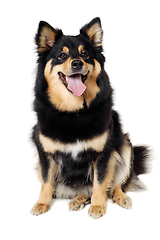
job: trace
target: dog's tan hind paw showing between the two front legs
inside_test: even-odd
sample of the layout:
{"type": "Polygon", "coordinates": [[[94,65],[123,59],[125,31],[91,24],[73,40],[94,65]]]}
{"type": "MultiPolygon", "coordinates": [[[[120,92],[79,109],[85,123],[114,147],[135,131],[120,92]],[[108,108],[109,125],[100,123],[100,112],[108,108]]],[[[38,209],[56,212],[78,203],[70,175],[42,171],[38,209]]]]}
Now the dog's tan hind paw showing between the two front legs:
{"type": "Polygon", "coordinates": [[[85,207],[86,204],[90,202],[89,199],[83,197],[83,196],[77,196],[75,197],[69,204],[69,209],[71,211],[77,211],[81,210],[85,207]]]}

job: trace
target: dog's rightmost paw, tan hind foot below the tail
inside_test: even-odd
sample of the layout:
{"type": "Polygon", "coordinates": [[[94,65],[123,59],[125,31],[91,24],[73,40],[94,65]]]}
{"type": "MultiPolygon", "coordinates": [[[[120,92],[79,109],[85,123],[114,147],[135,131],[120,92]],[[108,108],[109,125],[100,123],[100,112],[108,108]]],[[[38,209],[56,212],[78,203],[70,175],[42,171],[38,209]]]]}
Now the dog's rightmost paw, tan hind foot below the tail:
{"type": "Polygon", "coordinates": [[[113,202],[126,209],[132,208],[132,200],[125,193],[123,193],[121,196],[114,196],[113,202]]]}

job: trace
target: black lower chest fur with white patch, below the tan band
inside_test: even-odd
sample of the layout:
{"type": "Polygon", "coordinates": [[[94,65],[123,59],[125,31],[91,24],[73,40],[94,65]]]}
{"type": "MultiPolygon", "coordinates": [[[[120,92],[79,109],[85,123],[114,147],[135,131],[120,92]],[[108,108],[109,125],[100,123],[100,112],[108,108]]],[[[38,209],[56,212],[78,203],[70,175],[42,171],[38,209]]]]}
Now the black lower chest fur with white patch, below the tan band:
{"type": "Polygon", "coordinates": [[[82,146],[77,146],[72,151],[68,148],[65,153],[57,151],[53,155],[55,162],[59,165],[57,182],[73,188],[92,184],[93,162],[99,153],[93,150],[81,151],[81,148],[82,146]]]}

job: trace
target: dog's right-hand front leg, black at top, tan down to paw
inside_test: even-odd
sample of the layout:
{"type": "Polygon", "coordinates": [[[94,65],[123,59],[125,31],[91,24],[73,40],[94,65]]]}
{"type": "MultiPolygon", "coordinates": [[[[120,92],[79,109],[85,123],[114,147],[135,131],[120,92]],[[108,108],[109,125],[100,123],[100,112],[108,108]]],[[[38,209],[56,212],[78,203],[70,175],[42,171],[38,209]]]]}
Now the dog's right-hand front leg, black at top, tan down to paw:
{"type": "Polygon", "coordinates": [[[94,180],[89,215],[100,218],[106,213],[107,189],[111,186],[116,166],[116,154],[113,151],[94,163],[94,180]]]}

